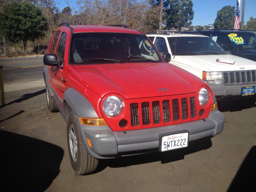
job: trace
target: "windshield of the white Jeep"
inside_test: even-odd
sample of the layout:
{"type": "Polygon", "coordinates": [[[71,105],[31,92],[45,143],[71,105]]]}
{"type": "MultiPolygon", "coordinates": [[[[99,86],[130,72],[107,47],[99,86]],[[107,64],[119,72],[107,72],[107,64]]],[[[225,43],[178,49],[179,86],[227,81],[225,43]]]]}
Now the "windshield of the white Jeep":
{"type": "Polygon", "coordinates": [[[209,37],[168,37],[172,55],[216,55],[226,52],[209,37]]]}

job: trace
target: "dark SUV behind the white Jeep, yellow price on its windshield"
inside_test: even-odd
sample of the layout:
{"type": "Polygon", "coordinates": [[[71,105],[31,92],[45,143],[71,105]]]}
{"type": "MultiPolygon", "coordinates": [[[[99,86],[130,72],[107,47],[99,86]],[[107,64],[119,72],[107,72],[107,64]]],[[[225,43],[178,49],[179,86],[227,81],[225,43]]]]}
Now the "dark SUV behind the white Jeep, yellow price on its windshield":
{"type": "Polygon", "coordinates": [[[228,54],[256,61],[256,34],[253,32],[216,29],[195,30],[194,32],[209,36],[228,54]]]}

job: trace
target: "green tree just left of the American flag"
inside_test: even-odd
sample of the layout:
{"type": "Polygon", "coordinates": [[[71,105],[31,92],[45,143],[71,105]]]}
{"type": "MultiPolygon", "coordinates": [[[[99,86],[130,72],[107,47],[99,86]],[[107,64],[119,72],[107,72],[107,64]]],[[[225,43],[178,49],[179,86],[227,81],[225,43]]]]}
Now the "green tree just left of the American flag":
{"type": "Polygon", "coordinates": [[[224,6],[217,12],[217,17],[214,21],[215,29],[230,29],[234,28],[234,6],[224,6]]]}

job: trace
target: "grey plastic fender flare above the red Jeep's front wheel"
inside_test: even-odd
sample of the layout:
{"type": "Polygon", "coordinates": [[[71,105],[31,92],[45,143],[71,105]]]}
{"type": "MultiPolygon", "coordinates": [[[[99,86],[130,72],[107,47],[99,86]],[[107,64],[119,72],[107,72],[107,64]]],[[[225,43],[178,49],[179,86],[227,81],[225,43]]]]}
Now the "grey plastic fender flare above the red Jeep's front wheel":
{"type": "Polygon", "coordinates": [[[70,111],[68,111],[69,109],[67,109],[65,103],[71,108],[72,113],[78,117],[98,118],[98,114],[90,101],[74,88],[68,88],[63,94],[64,111],[67,118],[70,111]]]}

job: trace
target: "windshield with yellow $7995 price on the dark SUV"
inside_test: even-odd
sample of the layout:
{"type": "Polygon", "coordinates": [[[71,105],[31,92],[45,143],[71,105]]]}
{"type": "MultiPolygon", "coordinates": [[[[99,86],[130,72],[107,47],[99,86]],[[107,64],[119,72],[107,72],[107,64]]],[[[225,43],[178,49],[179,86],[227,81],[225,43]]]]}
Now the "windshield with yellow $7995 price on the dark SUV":
{"type": "Polygon", "coordinates": [[[228,34],[228,41],[232,50],[256,49],[256,34],[254,33],[228,34]]]}

